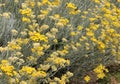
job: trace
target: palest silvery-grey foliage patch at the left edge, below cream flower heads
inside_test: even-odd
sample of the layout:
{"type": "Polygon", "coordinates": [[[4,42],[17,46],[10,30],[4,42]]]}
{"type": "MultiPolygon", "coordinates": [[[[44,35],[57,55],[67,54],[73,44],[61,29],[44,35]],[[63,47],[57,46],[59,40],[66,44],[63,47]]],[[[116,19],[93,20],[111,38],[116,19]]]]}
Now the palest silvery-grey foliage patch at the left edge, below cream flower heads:
{"type": "Polygon", "coordinates": [[[0,17],[0,42],[1,46],[11,39],[11,30],[15,28],[15,18],[10,15],[10,18],[0,17]]]}

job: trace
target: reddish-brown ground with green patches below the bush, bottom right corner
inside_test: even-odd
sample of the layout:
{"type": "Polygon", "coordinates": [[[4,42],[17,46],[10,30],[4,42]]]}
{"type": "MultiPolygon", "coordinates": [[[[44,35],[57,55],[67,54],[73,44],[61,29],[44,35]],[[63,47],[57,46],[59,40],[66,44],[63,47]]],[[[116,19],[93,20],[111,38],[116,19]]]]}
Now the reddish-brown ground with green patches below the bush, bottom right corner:
{"type": "Polygon", "coordinates": [[[114,63],[107,66],[109,72],[104,79],[96,79],[96,76],[90,72],[92,79],[89,83],[81,81],[79,78],[71,79],[69,84],[120,84],[120,63],[114,63]]]}

